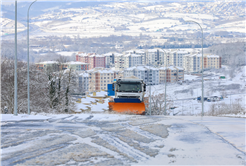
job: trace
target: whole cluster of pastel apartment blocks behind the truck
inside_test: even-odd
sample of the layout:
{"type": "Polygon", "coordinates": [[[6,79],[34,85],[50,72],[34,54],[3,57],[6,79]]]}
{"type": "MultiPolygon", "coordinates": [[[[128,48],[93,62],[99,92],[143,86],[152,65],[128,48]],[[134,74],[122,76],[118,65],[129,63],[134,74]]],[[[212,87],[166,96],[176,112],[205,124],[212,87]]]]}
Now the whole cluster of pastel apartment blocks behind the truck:
{"type": "MultiPolygon", "coordinates": [[[[221,57],[204,55],[204,70],[221,68],[221,57]]],[[[148,85],[165,82],[184,81],[184,73],[202,72],[202,54],[200,51],[184,50],[128,50],[123,53],[84,53],[76,54],[76,61],[44,61],[36,63],[38,70],[57,68],[77,71],[77,82],[83,91],[107,90],[107,84],[116,78],[136,76],[148,85]]]]}

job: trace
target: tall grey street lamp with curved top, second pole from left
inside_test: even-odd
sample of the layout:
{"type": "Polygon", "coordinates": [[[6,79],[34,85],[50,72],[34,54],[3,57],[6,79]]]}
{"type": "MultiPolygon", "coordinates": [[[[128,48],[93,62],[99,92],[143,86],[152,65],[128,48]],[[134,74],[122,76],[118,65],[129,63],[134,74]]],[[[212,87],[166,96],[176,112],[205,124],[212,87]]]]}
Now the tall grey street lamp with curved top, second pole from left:
{"type": "Polygon", "coordinates": [[[27,10],[27,96],[28,96],[28,114],[30,115],[30,90],[29,90],[29,9],[32,6],[34,2],[33,1],[31,5],[29,6],[27,10]]]}

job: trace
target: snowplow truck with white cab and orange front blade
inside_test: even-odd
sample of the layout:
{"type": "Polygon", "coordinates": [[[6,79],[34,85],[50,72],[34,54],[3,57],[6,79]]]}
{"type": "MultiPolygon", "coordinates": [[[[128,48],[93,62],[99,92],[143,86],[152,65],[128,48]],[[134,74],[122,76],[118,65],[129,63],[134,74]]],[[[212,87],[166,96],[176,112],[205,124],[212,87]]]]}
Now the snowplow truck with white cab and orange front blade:
{"type": "Polygon", "coordinates": [[[126,114],[145,114],[144,92],[146,84],[142,79],[116,79],[113,83],[115,97],[109,101],[109,110],[126,114]]]}

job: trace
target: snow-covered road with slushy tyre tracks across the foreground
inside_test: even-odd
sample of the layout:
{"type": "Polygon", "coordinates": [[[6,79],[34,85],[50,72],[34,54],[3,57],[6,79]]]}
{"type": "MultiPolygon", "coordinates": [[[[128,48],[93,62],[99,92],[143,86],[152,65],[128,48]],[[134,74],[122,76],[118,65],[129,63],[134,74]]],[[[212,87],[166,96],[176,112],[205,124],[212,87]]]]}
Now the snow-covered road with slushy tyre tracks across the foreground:
{"type": "Polygon", "coordinates": [[[1,115],[1,165],[244,165],[245,119],[1,115]]]}

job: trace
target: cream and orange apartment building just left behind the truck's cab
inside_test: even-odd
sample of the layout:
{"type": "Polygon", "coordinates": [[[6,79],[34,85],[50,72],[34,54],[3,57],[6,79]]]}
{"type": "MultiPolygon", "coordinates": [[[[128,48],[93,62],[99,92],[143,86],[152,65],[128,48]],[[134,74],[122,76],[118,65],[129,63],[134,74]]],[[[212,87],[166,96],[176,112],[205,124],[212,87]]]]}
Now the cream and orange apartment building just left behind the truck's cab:
{"type": "Polygon", "coordinates": [[[111,84],[114,79],[122,78],[121,71],[113,71],[107,68],[94,68],[88,71],[89,74],[89,91],[107,90],[107,85],[111,84]]]}

